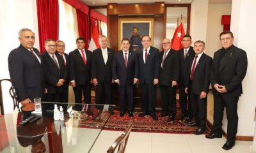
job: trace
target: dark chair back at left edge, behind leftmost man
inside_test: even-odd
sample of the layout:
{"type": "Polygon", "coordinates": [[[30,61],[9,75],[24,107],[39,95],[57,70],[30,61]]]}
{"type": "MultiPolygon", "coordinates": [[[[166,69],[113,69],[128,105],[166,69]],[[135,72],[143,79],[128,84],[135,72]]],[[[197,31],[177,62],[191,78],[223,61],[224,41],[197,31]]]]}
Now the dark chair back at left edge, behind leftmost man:
{"type": "Polygon", "coordinates": [[[15,89],[13,87],[12,81],[10,79],[2,79],[0,80],[0,109],[1,109],[1,115],[4,115],[4,108],[3,108],[3,89],[5,89],[6,87],[3,87],[3,82],[8,82],[10,83],[10,89],[9,89],[9,94],[12,98],[13,101],[13,110],[15,110],[15,108],[17,107],[19,112],[20,112],[20,108],[19,108],[19,101],[17,99],[17,94],[15,92],[15,89]]]}

